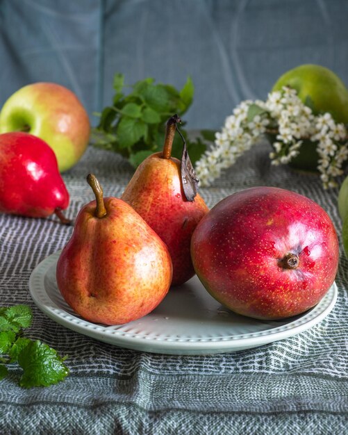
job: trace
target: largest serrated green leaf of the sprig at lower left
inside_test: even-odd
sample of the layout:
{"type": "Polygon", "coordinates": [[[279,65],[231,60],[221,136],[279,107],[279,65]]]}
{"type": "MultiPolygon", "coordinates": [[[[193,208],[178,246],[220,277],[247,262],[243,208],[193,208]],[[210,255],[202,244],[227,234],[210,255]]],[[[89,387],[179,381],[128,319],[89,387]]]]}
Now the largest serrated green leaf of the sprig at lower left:
{"type": "Polygon", "coordinates": [[[49,386],[63,381],[69,369],[56,350],[39,340],[31,341],[19,353],[18,363],[24,370],[19,385],[25,388],[49,386]]]}

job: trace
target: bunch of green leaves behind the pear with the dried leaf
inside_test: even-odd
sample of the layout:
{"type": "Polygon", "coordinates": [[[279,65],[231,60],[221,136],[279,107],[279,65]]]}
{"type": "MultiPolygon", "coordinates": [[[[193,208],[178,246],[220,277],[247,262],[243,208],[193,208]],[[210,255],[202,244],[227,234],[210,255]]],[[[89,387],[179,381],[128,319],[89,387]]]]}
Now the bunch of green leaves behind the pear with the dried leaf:
{"type": "MultiPolygon", "coordinates": [[[[165,123],[173,113],[181,117],[188,110],[193,100],[194,85],[188,77],[181,90],[172,85],[155,83],[151,78],[127,86],[124,74],[115,74],[113,89],[113,105],[99,114],[99,125],[92,131],[92,145],[115,151],[127,158],[133,167],[138,167],[144,158],[162,150],[165,123]],[[124,92],[126,88],[131,91],[124,92]]],[[[194,164],[206,150],[206,143],[200,138],[192,142],[184,129],[181,132],[194,164]]],[[[175,138],[172,155],[181,158],[181,154],[182,142],[180,138],[175,138]]]]}

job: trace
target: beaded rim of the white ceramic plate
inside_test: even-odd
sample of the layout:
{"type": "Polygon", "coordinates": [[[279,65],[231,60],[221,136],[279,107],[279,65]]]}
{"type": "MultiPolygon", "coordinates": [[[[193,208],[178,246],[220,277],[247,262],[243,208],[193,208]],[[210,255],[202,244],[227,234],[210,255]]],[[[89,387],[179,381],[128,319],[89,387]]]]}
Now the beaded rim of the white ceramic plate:
{"type": "MultiPolygon", "coordinates": [[[[153,352],[160,354],[213,354],[223,352],[235,352],[238,350],[245,350],[251,347],[258,347],[268,343],[273,343],[277,340],[283,340],[290,336],[300,334],[314,325],[317,325],[321,320],[326,318],[332,311],[338,298],[338,288],[333,282],[332,286],[326,292],[322,300],[306,311],[301,317],[285,325],[279,325],[272,329],[265,329],[263,331],[248,332],[246,334],[236,334],[230,338],[217,338],[212,340],[204,340],[199,338],[181,340],[160,340],[158,338],[147,338],[146,336],[136,336],[136,334],[126,334],[124,331],[117,331],[115,326],[99,325],[83,318],[78,318],[64,309],[60,308],[49,295],[44,286],[44,277],[46,276],[49,268],[58,261],[58,256],[61,249],[53,254],[44,258],[38,265],[35,266],[29,278],[29,292],[31,298],[36,306],[46,314],[53,321],[57,322],[67,329],[76,331],[79,334],[89,336],[99,341],[116,345],[119,347],[126,347],[132,350],[140,350],[143,352],[153,352]],[[44,304],[42,299],[38,297],[38,284],[40,283],[40,290],[43,292],[44,297],[49,299],[52,306],[44,304]],[[317,311],[319,312],[317,313],[317,311]],[[295,324],[295,325],[294,325],[295,324]]],[[[59,291],[59,290],[58,290],[59,291]]]]}

